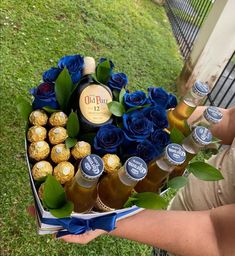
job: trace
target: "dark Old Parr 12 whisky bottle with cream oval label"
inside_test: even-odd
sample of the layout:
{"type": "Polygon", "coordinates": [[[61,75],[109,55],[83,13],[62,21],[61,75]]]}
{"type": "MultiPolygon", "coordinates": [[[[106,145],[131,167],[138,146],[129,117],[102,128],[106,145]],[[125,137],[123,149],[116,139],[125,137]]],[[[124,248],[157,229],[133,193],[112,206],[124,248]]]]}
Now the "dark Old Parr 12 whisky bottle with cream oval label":
{"type": "Polygon", "coordinates": [[[76,109],[81,127],[86,131],[93,131],[102,125],[112,122],[112,113],[107,103],[112,101],[112,91],[106,85],[97,83],[92,74],[95,73],[95,60],[84,58],[85,67],[83,77],[76,92],[76,109]]]}

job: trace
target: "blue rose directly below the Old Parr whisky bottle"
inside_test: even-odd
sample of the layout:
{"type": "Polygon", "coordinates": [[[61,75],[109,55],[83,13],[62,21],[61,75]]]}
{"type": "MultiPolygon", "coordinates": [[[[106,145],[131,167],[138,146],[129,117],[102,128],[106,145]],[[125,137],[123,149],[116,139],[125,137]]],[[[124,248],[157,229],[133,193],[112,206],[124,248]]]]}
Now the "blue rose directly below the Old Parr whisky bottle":
{"type": "Polygon", "coordinates": [[[107,124],[100,127],[94,138],[94,148],[98,154],[117,153],[118,147],[124,141],[122,129],[107,124]]]}

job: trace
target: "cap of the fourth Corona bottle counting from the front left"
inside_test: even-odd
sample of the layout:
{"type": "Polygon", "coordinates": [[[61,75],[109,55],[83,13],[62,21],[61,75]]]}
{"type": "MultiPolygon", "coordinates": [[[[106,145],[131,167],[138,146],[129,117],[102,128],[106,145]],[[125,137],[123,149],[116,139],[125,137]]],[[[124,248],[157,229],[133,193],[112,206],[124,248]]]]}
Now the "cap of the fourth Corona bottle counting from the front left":
{"type": "Polygon", "coordinates": [[[212,133],[204,126],[196,126],[192,132],[192,137],[198,144],[206,146],[211,143],[212,133]]]}

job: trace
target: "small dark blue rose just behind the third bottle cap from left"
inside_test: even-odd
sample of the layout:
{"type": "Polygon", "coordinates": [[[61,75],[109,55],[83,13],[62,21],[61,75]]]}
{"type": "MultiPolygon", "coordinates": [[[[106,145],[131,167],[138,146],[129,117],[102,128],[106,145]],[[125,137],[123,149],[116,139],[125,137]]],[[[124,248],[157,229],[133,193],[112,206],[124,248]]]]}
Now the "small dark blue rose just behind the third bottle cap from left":
{"type": "Polygon", "coordinates": [[[150,140],[156,149],[159,152],[162,152],[164,148],[170,143],[170,135],[162,129],[157,129],[151,134],[150,140]]]}

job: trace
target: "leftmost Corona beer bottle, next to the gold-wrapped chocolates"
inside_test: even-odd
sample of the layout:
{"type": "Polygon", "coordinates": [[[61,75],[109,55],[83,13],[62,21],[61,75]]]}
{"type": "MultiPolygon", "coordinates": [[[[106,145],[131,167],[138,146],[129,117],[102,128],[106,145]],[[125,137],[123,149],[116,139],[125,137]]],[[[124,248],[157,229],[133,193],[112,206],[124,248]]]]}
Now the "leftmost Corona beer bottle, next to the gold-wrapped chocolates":
{"type": "Polygon", "coordinates": [[[69,201],[74,203],[75,212],[90,211],[97,198],[97,182],[104,170],[102,159],[94,154],[84,157],[76,175],[65,184],[69,201]]]}

